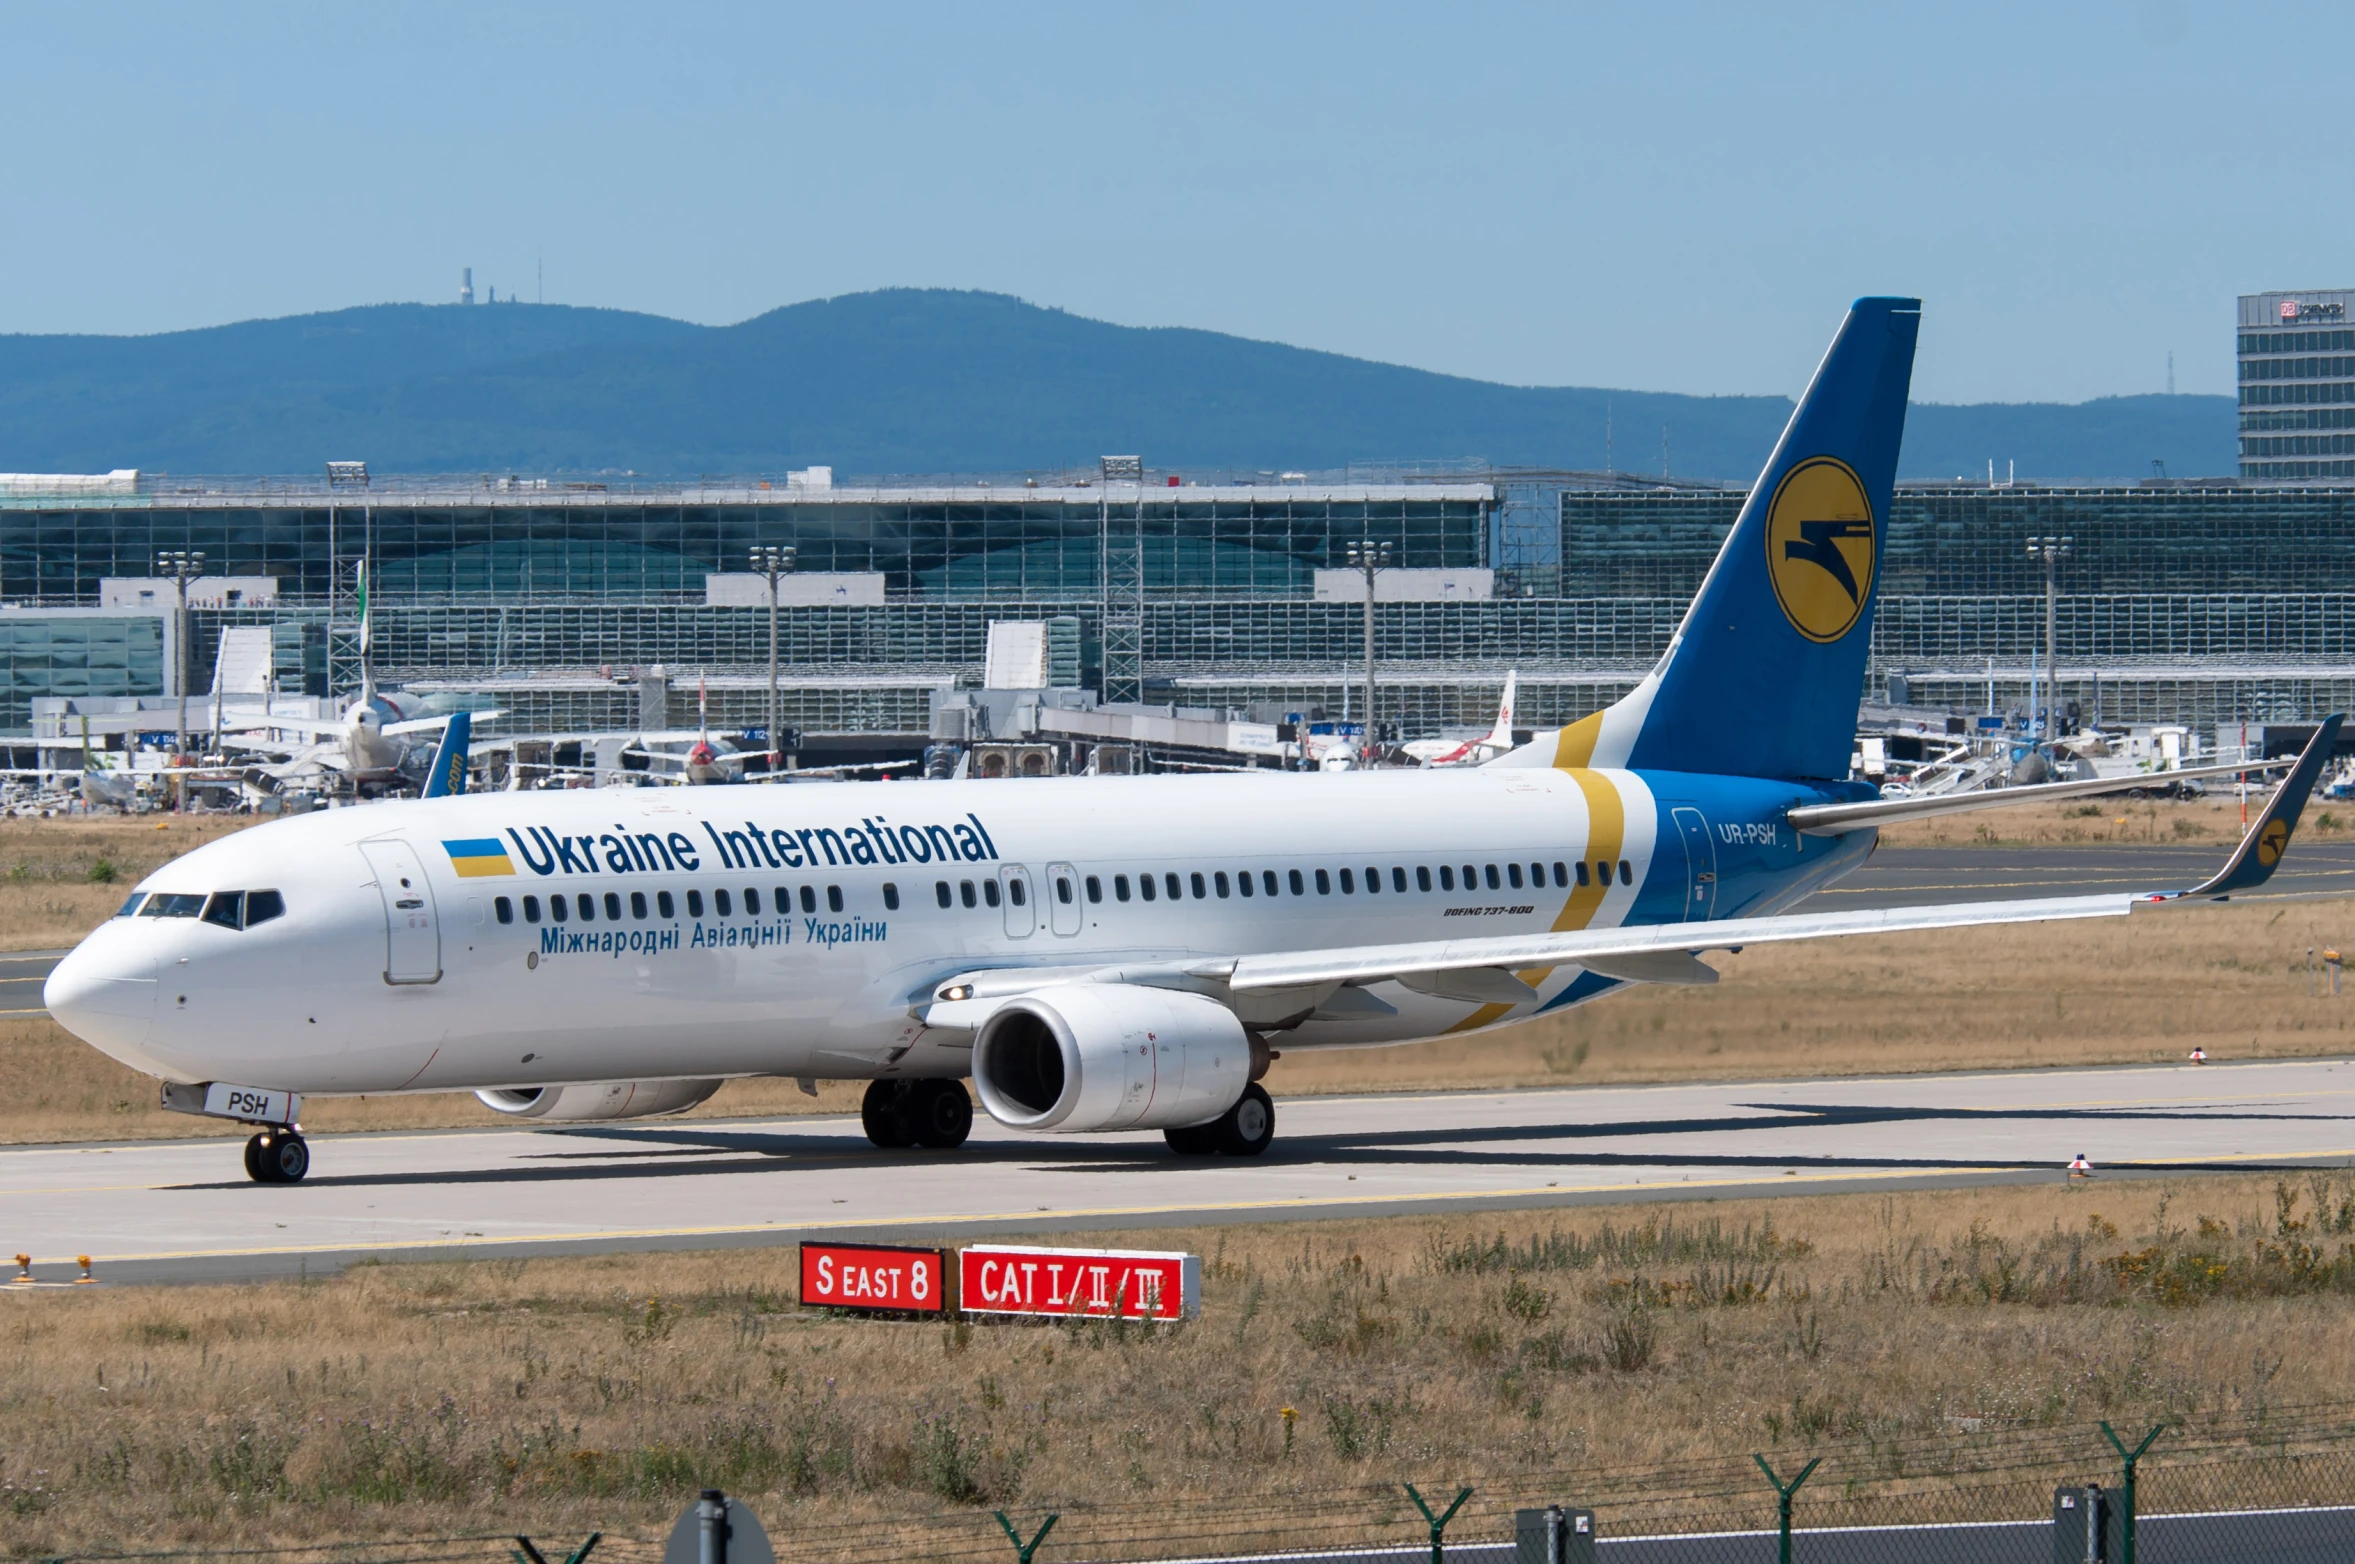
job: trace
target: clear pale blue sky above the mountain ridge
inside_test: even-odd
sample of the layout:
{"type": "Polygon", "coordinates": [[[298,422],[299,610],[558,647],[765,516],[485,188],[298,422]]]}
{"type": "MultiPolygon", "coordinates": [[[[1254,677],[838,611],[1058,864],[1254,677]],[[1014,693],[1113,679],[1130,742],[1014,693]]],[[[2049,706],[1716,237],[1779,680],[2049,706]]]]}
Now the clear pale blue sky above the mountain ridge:
{"type": "Polygon", "coordinates": [[[2230,391],[2355,285],[2355,9],[7,5],[0,330],[987,287],[1517,384],[2230,391]]]}

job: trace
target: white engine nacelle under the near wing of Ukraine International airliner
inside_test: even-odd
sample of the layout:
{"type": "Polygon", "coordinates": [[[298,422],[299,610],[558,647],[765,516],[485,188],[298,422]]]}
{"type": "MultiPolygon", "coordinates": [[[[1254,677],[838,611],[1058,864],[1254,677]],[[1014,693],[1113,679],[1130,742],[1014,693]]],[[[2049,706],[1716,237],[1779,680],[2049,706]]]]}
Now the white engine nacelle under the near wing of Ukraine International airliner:
{"type": "Polygon", "coordinates": [[[1017,1131],[1208,1124],[1251,1083],[1251,1039],[1201,994],[1074,982],[1008,999],[973,1039],[973,1086],[1017,1131]]]}

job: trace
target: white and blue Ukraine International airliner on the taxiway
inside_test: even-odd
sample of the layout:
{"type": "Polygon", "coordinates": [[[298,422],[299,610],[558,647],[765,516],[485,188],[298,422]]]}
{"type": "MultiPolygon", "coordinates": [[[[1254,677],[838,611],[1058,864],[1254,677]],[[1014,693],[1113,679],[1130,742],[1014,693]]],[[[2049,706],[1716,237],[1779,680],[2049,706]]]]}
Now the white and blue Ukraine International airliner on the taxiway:
{"type": "MultiPolygon", "coordinates": [[[[2124,916],[2280,862],[2339,718],[2240,850],[2171,897],[1785,914],[1875,827],[1990,796],[1849,782],[1919,306],[1860,299],[1660,664],[1488,766],[487,794],[280,820],[158,869],[47,1006],[165,1102],[476,1091],[542,1121],[678,1112],[728,1076],[864,1079],[878,1145],[1166,1131],[1255,1154],[1281,1048],[1474,1032],[1707,949],[2124,916]]],[[[1992,801],[2115,789],[2009,789],[1992,801]]]]}

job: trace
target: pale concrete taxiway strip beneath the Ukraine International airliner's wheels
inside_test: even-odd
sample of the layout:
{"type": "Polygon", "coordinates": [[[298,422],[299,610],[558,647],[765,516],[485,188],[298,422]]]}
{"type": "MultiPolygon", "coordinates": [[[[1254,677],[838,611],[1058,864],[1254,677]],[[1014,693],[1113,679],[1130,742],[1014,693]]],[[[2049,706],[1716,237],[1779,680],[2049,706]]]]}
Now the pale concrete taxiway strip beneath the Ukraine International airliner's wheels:
{"type": "Polygon", "coordinates": [[[1279,1102],[1267,1157],[1149,1135],[876,1152],[853,1119],[318,1135],[304,1185],[236,1140],[0,1149],[0,1253],[64,1281],[311,1274],[360,1258],[984,1237],[2355,1166],[2355,1060],[1279,1102]]]}

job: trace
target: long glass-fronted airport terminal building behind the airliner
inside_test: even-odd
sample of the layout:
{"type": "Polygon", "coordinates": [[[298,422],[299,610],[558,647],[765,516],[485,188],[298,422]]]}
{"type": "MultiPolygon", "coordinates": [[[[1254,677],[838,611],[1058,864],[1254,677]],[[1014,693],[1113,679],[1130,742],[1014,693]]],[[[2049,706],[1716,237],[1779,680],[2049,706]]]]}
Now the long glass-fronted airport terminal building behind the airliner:
{"type": "MultiPolygon", "coordinates": [[[[671,723],[695,721],[704,681],[714,728],[751,728],[765,546],[796,551],[777,624],[782,721],[803,733],[926,733],[940,692],[980,683],[996,619],[1048,622],[1053,683],[1107,700],[1354,718],[1349,544],[1364,542],[1389,565],[1378,721],[1406,737],[1486,728],[1519,669],[1519,721],[1550,725],[1658,657],[1740,502],[1535,471],[1175,488],[1154,471],[900,488],[0,481],[0,728],[24,733],[42,695],[203,692],[233,624],[268,627],[276,688],[351,690],[363,561],[379,681],[480,690],[532,730],[589,730],[664,716],[643,704],[659,667],[671,723]],[[203,554],[184,565],[186,648],[160,563],[174,554],[203,554]]],[[[2211,728],[2346,709],[2350,523],[2355,485],[2334,483],[1903,485],[1868,697],[2021,707],[2044,643],[2025,539],[2065,535],[2061,692],[2084,716],[2211,728]]]]}

